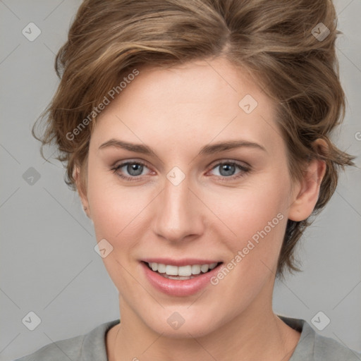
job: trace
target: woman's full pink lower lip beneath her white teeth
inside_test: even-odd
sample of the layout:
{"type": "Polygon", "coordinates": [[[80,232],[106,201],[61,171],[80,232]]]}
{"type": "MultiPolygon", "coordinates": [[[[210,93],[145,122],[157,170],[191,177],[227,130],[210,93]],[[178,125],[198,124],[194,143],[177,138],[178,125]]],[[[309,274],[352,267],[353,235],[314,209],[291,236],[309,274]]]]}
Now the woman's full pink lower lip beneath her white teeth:
{"type": "Polygon", "coordinates": [[[199,292],[209,285],[210,279],[212,279],[212,276],[216,275],[219,271],[219,267],[221,266],[221,264],[219,264],[217,267],[212,269],[212,271],[200,276],[195,276],[193,279],[177,280],[166,279],[158,272],[154,272],[149,269],[145,262],[140,262],[140,264],[144,269],[145,276],[147,277],[149,283],[151,283],[154,288],[157,288],[157,290],[172,296],[189,296],[199,292]]]}

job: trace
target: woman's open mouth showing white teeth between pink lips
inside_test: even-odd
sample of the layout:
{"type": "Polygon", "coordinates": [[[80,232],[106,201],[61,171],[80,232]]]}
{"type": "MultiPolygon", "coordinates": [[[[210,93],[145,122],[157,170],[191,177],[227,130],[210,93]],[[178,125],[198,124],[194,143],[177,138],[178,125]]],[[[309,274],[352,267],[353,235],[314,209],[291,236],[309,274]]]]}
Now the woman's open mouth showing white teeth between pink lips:
{"type": "Polygon", "coordinates": [[[160,276],[166,279],[184,281],[207,274],[223,262],[212,262],[210,264],[186,264],[185,266],[175,266],[173,264],[163,264],[157,262],[143,262],[145,265],[160,276]]]}

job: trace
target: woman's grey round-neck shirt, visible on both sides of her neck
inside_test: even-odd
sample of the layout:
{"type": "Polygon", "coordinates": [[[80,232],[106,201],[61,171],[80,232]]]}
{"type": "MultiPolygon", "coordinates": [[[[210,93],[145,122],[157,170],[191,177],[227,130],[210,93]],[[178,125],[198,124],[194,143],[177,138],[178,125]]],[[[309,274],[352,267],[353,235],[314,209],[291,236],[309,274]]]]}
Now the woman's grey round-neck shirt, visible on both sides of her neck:
{"type": "MultiPolygon", "coordinates": [[[[288,326],[301,332],[290,361],[360,361],[361,353],[350,350],[333,338],[317,334],[304,319],[279,316],[288,326]]],[[[15,361],[108,361],[106,332],[119,319],[97,326],[85,335],[49,343],[35,353],[15,361]]]]}

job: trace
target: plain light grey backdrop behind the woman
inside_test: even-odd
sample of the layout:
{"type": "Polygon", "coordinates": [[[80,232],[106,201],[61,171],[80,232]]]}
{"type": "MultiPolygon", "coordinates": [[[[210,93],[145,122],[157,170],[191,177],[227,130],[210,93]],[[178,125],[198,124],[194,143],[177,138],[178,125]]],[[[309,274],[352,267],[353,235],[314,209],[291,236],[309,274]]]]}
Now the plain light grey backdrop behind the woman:
{"type": "MultiPolygon", "coordinates": [[[[30,134],[56,90],[54,54],[79,5],[80,0],[0,1],[0,360],[13,360],[119,317],[118,292],[94,252],[92,223],[63,182],[61,164],[45,162],[30,134]],[[41,30],[33,42],[22,34],[30,22],[41,30]],[[40,175],[33,185],[23,178],[30,167],[40,175]],[[22,322],[30,311],[42,320],[34,331],[22,322]]],[[[336,144],[357,155],[360,167],[361,1],[338,0],[336,8],[343,31],[337,43],[340,71],[348,97],[336,144]]],[[[360,185],[360,169],[341,175],[334,197],[298,248],[304,271],[278,282],[274,290],[276,313],[312,324],[322,311],[331,323],[318,332],[358,352],[360,185]]]]}

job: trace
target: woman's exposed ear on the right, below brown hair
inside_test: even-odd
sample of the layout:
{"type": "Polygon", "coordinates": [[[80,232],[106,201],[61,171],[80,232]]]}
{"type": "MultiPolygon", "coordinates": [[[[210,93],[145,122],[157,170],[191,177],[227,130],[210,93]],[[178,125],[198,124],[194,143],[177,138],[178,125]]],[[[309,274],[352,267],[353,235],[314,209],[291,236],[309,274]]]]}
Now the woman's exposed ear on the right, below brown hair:
{"type": "MultiPolygon", "coordinates": [[[[327,143],[317,139],[313,143],[314,148],[327,149],[327,143]]],[[[303,221],[312,213],[319,198],[319,188],[326,173],[326,162],[313,159],[307,164],[307,169],[302,180],[295,187],[295,196],[290,205],[288,219],[291,221],[303,221]]]]}

